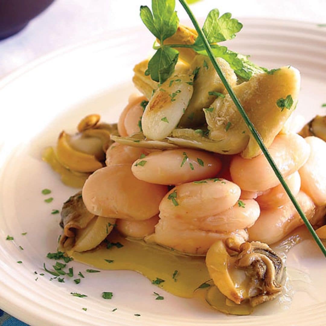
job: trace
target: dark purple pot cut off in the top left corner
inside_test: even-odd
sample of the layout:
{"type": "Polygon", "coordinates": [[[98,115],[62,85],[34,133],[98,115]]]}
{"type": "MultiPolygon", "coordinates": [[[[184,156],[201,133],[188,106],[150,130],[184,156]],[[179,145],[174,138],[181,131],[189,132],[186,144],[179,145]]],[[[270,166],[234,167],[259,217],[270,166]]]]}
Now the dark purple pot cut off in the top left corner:
{"type": "Polygon", "coordinates": [[[0,0],[0,40],[18,33],[54,0],[0,0]]]}

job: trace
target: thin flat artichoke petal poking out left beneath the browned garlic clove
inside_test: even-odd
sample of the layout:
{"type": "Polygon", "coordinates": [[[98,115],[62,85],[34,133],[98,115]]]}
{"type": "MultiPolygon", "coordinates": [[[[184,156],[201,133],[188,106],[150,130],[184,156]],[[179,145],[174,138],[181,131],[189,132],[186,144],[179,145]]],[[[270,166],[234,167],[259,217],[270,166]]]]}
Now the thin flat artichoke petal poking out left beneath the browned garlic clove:
{"type": "Polygon", "coordinates": [[[128,136],[128,137],[111,136],[111,139],[123,145],[149,148],[149,149],[171,149],[171,148],[178,147],[174,144],[170,144],[167,140],[161,140],[161,141],[148,140],[145,138],[142,132],[133,134],[132,136],[128,136]]]}

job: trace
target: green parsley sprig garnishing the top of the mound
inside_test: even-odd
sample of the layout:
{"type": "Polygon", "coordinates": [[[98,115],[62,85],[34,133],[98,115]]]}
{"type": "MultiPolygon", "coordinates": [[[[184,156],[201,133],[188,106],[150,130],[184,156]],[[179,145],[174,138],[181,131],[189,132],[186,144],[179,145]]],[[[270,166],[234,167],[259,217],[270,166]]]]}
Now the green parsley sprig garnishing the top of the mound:
{"type": "MultiPolygon", "coordinates": [[[[164,41],[175,34],[178,28],[179,18],[174,8],[175,0],[152,0],[152,11],[147,6],[140,8],[141,20],[160,42],[159,45],[154,46],[156,53],[149,61],[145,75],[150,75],[160,84],[165,82],[174,71],[179,57],[176,48],[191,48],[197,53],[207,55],[200,35],[194,44],[164,44],[164,41]]],[[[211,45],[214,56],[226,60],[239,77],[249,80],[254,72],[263,72],[267,69],[256,66],[248,60],[247,56],[217,44],[234,38],[242,27],[242,23],[231,18],[229,12],[220,16],[219,10],[213,9],[209,12],[202,31],[211,45]]],[[[208,69],[207,62],[204,63],[204,68],[208,69]]]]}

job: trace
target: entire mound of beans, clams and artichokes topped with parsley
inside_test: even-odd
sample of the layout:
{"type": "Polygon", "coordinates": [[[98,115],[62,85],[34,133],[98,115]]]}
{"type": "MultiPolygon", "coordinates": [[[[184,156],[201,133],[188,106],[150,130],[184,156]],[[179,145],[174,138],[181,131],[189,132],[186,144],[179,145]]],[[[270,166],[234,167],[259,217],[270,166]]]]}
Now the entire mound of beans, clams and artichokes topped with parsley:
{"type": "Polygon", "coordinates": [[[326,238],[326,117],[294,132],[300,72],[259,67],[220,45],[242,28],[230,13],[213,9],[201,35],[179,23],[174,6],[141,7],[156,52],[135,65],[139,93],[118,122],[89,114],[43,154],[65,184],[82,188],[63,204],[58,250],[249,314],[284,292],[275,246],[304,225],[302,214],[326,238]]]}

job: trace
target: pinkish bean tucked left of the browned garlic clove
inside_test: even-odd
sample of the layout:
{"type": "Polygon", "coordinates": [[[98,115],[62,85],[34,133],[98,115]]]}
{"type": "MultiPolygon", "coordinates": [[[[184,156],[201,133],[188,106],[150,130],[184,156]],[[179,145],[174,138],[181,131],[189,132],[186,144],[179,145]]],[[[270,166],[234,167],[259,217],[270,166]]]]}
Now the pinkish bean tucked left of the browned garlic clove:
{"type": "Polygon", "coordinates": [[[120,136],[126,137],[131,135],[130,132],[140,131],[140,128],[138,126],[139,119],[137,120],[137,116],[139,113],[142,114],[143,112],[143,108],[140,104],[144,100],[146,100],[145,96],[130,97],[129,103],[120,114],[118,120],[118,131],[120,136]],[[130,115],[128,114],[129,111],[130,115]]]}

